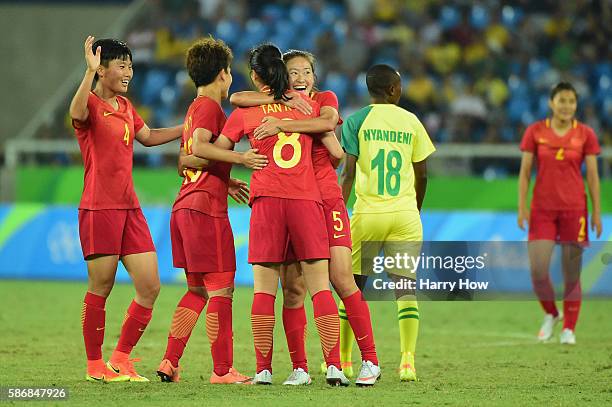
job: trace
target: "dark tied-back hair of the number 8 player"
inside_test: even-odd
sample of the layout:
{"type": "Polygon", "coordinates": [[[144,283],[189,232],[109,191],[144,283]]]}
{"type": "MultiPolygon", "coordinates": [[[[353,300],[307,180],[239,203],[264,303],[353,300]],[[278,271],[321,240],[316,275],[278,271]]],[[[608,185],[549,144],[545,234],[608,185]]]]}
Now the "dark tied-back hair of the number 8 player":
{"type": "Polygon", "coordinates": [[[282,57],[280,49],[270,43],[259,45],[249,55],[249,68],[270,87],[270,95],[276,100],[287,100],[285,92],[289,89],[289,74],[282,57]]]}

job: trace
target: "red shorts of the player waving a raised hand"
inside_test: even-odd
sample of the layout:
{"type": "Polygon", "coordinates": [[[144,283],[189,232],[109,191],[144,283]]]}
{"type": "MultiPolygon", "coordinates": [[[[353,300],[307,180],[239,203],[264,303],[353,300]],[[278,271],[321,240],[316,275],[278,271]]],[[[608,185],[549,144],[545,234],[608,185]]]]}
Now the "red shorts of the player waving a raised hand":
{"type": "Polygon", "coordinates": [[[94,254],[154,252],[147,220],[137,209],[79,209],[79,237],[85,260],[94,254]]]}

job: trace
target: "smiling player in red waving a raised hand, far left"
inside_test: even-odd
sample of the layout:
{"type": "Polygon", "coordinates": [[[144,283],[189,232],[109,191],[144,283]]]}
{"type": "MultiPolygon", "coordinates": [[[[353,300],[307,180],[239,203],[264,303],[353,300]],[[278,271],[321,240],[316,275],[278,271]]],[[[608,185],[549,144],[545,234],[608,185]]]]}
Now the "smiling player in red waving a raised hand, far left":
{"type": "Polygon", "coordinates": [[[89,286],[83,302],[83,337],[89,381],[148,381],[136,373],[130,352],[147,324],[159,293],[155,246],[132,181],[133,143],[156,146],[175,140],[182,126],[149,129],[120,96],[132,79],[132,53],[113,39],[85,40],[85,76],[70,103],[70,116],[85,166],[79,235],[89,286]],[[91,90],[94,79],[96,85],[91,90]],[[121,260],[136,296],[110,361],[102,359],[105,303],[121,260]]]}

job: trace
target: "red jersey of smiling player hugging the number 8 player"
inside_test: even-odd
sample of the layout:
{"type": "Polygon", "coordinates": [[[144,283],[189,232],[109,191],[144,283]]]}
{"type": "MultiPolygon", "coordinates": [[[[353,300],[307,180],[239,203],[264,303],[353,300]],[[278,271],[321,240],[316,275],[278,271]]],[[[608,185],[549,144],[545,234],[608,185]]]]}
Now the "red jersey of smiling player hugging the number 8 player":
{"type": "MultiPolygon", "coordinates": [[[[327,90],[313,93],[311,96],[321,107],[330,106],[338,110],[338,97],[334,92],[327,90]]],[[[338,119],[338,124],[342,124],[342,119],[338,119]]],[[[338,175],[330,160],[329,151],[318,138],[313,142],[312,160],[321,198],[342,198],[342,189],[338,184],[338,175]]]]}

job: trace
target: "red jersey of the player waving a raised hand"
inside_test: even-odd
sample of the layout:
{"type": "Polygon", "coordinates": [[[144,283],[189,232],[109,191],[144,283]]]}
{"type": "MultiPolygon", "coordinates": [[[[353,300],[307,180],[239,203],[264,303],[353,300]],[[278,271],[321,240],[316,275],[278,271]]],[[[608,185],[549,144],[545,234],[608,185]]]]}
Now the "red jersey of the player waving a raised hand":
{"type": "Polygon", "coordinates": [[[85,183],[80,209],[139,208],[132,180],[134,135],[144,126],[130,101],[117,96],[119,110],[90,92],[89,116],[73,120],[83,165],[85,183]]]}

